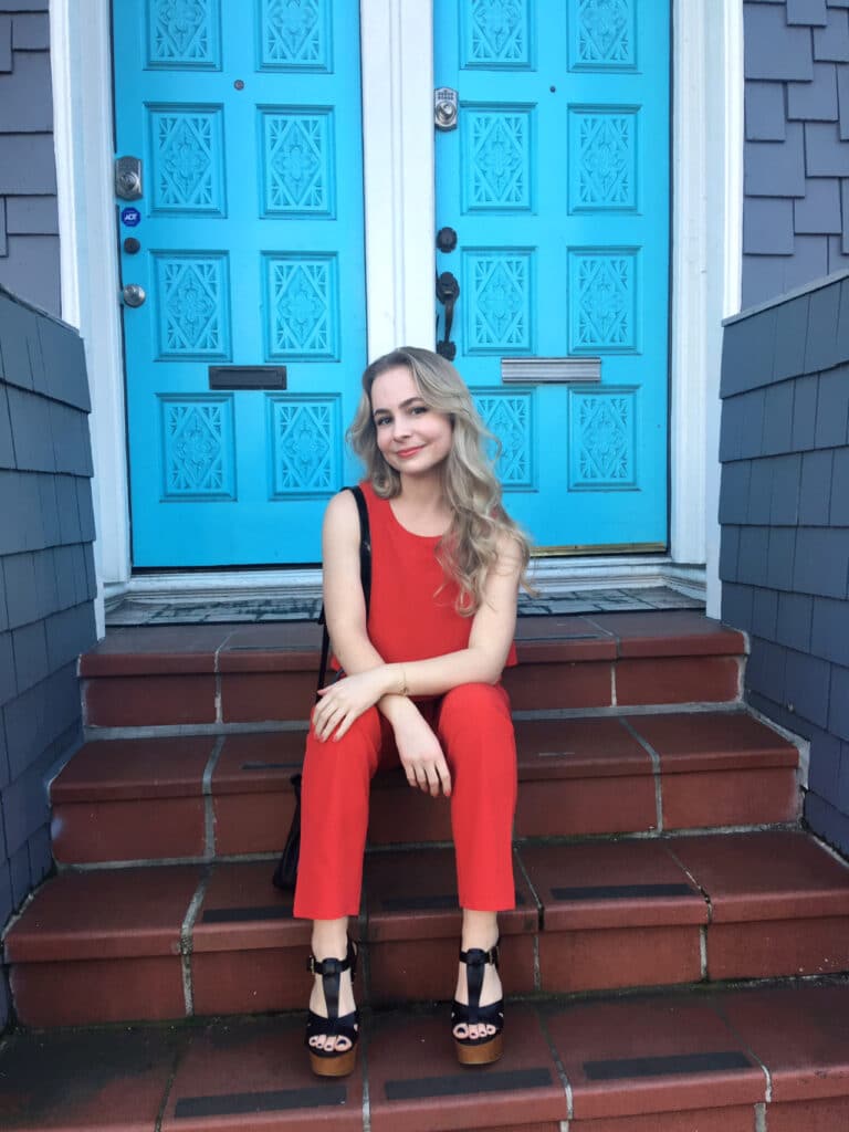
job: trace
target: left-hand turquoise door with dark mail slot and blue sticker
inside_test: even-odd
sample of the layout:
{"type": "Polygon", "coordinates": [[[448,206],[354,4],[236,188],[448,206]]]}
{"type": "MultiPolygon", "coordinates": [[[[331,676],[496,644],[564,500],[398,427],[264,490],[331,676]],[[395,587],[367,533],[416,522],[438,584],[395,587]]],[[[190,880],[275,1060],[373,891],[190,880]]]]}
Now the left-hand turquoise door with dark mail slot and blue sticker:
{"type": "Polygon", "coordinates": [[[359,6],[114,0],[113,36],[134,565],[317,561],[366,361],[359,6]]]}

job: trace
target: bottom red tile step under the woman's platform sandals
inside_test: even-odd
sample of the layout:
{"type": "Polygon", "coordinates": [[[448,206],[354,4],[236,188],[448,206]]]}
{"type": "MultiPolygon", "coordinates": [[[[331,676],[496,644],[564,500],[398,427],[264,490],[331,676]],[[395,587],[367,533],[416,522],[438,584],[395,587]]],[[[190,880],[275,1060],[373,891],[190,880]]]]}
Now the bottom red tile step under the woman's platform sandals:
{"type": "Polygon", "coordinates": [[[479,1071],[457,1066],[445,1006],[367,1012],[367,1065],[338,1081],[310,1074],[302,1014],[20,1031],[0,1048],[0,1125],[359,1132],[367,1082],[374,1132],[737,1132],[755,1106],[757,1126],[817,1132],[849,1115],[847,1019],[838,980],[511,1003],[505,1055],[479,1071]]]}

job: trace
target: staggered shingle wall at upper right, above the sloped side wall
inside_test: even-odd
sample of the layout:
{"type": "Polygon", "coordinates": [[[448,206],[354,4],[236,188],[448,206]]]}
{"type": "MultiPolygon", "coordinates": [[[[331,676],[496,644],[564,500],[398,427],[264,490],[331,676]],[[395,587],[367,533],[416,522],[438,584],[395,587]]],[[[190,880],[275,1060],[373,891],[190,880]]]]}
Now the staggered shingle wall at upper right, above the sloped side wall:
{"type": "Polygon", "coordinates": [[[849,0],[744,3],[743,306],[849,267],[849,0]]]}

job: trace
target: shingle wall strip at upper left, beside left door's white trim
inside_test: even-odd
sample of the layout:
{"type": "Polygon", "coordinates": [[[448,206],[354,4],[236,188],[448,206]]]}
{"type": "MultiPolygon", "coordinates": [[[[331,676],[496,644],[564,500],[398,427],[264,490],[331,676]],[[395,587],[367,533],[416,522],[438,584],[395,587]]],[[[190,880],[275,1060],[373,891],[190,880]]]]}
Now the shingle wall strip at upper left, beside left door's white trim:
{"type": "Polygon", "coordinates": [[[48,0],[0,0],[0,284],[60,314],[48,0]]]}

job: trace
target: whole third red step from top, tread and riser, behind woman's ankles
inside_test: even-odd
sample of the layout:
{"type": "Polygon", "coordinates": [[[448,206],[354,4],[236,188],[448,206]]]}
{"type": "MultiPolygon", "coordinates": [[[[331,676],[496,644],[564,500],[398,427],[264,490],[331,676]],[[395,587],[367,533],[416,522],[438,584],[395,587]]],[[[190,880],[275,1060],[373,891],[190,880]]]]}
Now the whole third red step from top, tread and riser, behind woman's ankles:
{"type": "MultiPolygon", "coordinates": [[[[849,971],[849,867],[803,833],[520,846],[507,992],[849,971]]],[[[28,1026],[297,1009],[309,926],[268,861],[66,873],[6,937],[28,1026]]],[[[452,852],[369,855],[362,1002],[447,997],[452,852]]]]}

